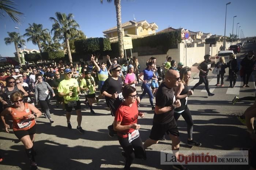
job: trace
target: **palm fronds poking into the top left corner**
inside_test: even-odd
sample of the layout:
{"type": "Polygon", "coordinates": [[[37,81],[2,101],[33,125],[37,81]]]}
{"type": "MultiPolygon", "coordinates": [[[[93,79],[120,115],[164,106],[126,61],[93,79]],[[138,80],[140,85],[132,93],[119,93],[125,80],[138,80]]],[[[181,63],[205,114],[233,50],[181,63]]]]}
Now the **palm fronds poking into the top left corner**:
{"type": "Polygon", "coordinates": [[[5,16],[4,13],[2,12],[2,11],[4,11],[4,12],[6,12],[11,17],[11,19],[15,23],[20,24],[19,16],[23,15],[23,13],[17,11],[16,8],[12,7],[14,5],[16,5],[14,3],[14,1],[11,1],[11,0],[0,0],[0,15],[5,16]]]}

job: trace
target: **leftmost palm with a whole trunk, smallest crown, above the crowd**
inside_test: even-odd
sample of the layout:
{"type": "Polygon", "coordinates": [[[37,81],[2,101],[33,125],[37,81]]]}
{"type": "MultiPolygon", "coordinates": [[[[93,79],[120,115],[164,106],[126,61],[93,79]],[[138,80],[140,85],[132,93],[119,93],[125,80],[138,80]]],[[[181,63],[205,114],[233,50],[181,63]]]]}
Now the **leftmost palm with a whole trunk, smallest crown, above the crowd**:
{"type": "Polygon", "coordinates": [[[7,33],[9,35],[9,37],[4,38],[5,44],[9,45],[11,43],[14,43],[20,66],[22,66],[22,63],[21,63],[21,60],[20,60],[18,45],[19,44],[24,44],[26,41],[21,39],[21,36],[17,32],[7,32],[7,33]]]}

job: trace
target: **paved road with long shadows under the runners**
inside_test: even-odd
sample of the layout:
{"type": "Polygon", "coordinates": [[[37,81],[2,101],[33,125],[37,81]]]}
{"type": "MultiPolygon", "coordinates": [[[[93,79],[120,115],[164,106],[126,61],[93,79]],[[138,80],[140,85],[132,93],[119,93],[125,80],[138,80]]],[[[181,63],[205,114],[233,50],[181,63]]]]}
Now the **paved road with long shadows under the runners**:
{"type": "MultiPolygon", "coordinates": [[[[240,59],[249,49],[256,50],[256,44],[246,44],[241,53],[237,55],[240,59]]],[[[203,58],[203,56],[202,56],[203,58]]],[[[196,70],[196,69],[193,69],[196,70]]],[[[198,81],[198,72],[192,73],[194,79],[190,85],[193,86],[198,81]]],[[[225,75],[225,79],[227,74],[225,75]]],[[[227,88],[229,82],[225,81],[225,87],[215,87],[216,76],[210,74],[210,91],[214,96],[208,97],[204,86],[199,86],[193,96],[189,97],[188,106],[194,120],[193,138],[202,143],[201,147],[189,147],[187,143],[187,129],[184,119],[178,120],[178,127],[181,138],[181,150],[238,150],[241,147],[249,148],[253,145],[248,134],[235,115],[242,112],[252,104],[245,101],[231,105],[234,96],[254,96],[254,76],[251,76],[249,88],[242,88],[239,78],[236,88],[227,88]]],[[[139,94],[142,93],[137,87],[139,94]]],[[[81,97],[81,100],[84,100],[81,97]]],[[[67,128],[65,112],[61,108],[56,108],[54,101],[52,104],[52,118],[54,123],[49,124],[45,118],[37,119],[37,135],[34,143],[37,151],[37,164],[39,169],[48,170],[77,170],[77,169],[121,169],[124,166],[124,158],[121,156],[121,147],[117,138],[108,136],[107,126],[113,122],[113,117],[106,111],[106,104],[101,100],[95,104],[96,115],[91,115],[83,104],[82,127],[86,132],[79,134],[75,129],[77,126],[76,116],[73,113],[71,123],[73,129],[67,128]]],[[[154,112],[151,111],[149,100],[142,99],[140,111],[146,113],[144,118],[139,119],[141,125],[140,135],[143,142],[148,138],[152,127],[154,112]]],[[[3,127],[3,124],[0,124],[3,127]]],[[[16,170],[29,169],[28,159],[24,146],[19,142],[13,133],[0,131],[0,148],[4,161],[0,163],[0,169],[16,170]]],[[[161,141],[157,145],[147,149],[147,160],[135,160],[132,164],[133,170],[139,169],[172,169],[167,165],[160,165],[160,150],[170,150],[171,141],[161,141]]],[[[237,165],[189,165],[189,169],[194,170],[227,170],[227,169],[248,169],[248,166],[237,165]]]]}

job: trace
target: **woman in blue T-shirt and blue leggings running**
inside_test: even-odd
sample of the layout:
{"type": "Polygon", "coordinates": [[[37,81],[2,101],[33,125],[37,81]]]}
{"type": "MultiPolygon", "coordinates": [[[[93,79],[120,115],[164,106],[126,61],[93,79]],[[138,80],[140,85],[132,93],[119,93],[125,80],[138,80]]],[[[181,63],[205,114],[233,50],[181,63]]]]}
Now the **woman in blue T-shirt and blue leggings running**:
{"type": "Polygon", "coordinates": [[[152,110],[155,110],[155,107],[154,107],[154,104],[153,104],[154,96],[153,96],[152,91],[150,89],[151,82],[152,82],[151,79],[155,79],[154,78],[155,75],[154,75],[154,72],[152,70],[153,67],[154,67],[154,63],[149,62],[148,65],[147,65],[147,68],[145,68],[142,72],[140,72],[139,79],[143,82],[143,84],[142,84],[143,92],[140,95],[140,101],[142,100],[142,98],[147,93],[148,96],[149,96],[149,101],[150,101],[150,104],[151,104],[151,108],[152,108],[152,110]],[[141,78],[142,76],[143,76],[143,79],[141,78]]]}

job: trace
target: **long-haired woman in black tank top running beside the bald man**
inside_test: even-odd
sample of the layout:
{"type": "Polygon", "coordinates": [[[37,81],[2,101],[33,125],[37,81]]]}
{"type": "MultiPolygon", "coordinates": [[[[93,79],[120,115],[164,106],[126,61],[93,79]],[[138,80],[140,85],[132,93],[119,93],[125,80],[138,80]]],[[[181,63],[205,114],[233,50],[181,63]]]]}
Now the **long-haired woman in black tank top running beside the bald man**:
{"type": "Polygon", "coordinates": [[[180,115],[184,118],[185,122],[187,123],[187,132],[188,132],[188,146],[201,146],[201,143],[196,142],[192,138],[193,134],[193,119],[191,116],[191,112],[188,109],[188,96],[193,95],[193,91],[189,90],[188,82],[191,78],[191,68],[184,67],[180,70],[180,84],[178,87],[174,87],[175,90],[175,98],[180,99],[181,106],[177,107],[174,110],[174,119],[178,120],[180,115]]]}

